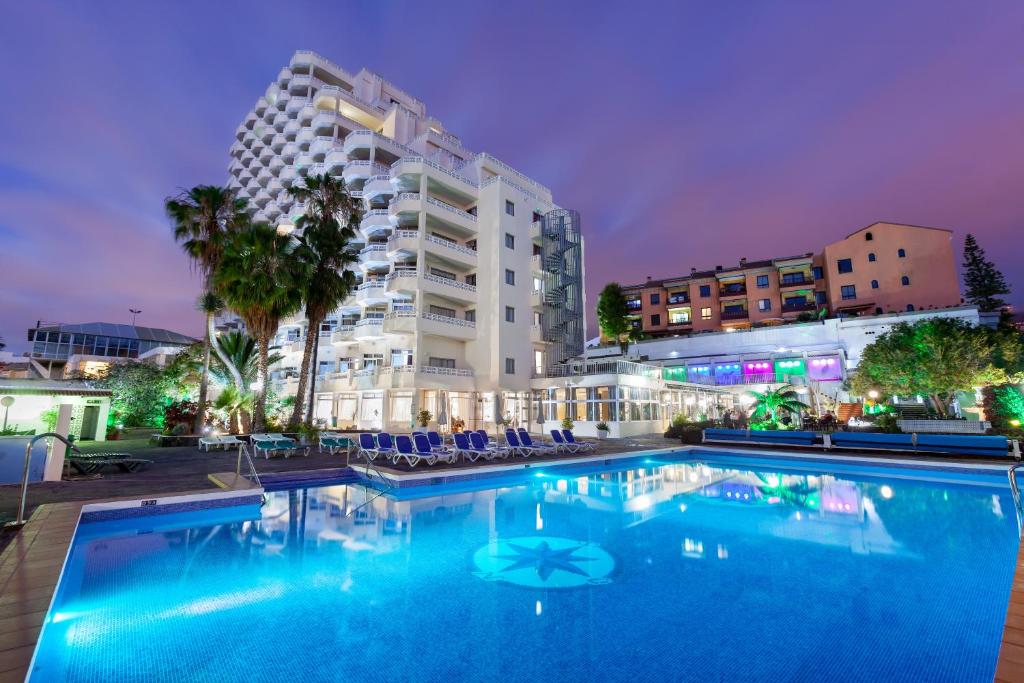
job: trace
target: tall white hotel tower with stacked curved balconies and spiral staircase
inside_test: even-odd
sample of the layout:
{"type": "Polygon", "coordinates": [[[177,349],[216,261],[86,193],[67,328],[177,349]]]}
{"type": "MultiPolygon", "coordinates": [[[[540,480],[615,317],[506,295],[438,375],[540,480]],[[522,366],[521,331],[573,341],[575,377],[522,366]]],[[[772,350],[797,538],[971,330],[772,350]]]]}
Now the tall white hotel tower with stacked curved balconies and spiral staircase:
{"type": "MultiPolygon", "coordinates": [[[[289,188],[309,174],[340,176],[364,202],[358,287],[315,332],[317,418],[408,430],[426,409],[442,426],[536,423],[531,378],[583,351],[578,213],[380,76],[313,52],[295,53],[236,137],[229,186],[256,220],[294,229],[303,207],[289,188]]],[[[306,327],[279,333],[279,393],[296,390],[306,327]]]]}

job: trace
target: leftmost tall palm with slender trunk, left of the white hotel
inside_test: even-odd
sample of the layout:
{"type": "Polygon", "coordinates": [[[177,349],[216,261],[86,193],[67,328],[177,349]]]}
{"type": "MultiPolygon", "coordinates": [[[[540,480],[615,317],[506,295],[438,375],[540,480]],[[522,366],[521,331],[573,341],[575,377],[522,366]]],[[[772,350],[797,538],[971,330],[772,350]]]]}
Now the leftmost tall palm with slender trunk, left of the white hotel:
{"type": "MultiPolygon", "coordinates": [[[[206,423],[206,394],[210,377],[210,348],[213,345],[214,316],[220,310],[213,292],[213,273],[224,255],[228,237],[249,224],[248,203],[234,193],[215,185],[197,185],[177,197],[168,198],[164,209],[174,224],[174,240],[191,258],[193,266],[203,275],[203,295],[199,308],[206,314],[203,339],[203,376],[199,388],[199,413],[193,430],[203,431],[206,423]]],[[[227,364],[224,358],[222,361],[227,364]]]]}

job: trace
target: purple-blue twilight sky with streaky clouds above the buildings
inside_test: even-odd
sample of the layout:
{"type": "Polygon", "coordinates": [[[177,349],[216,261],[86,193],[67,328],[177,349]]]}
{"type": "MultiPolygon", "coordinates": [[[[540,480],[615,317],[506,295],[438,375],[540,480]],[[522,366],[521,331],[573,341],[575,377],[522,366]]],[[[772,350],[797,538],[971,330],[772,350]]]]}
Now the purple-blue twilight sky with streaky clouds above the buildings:
{"type": "MultiPolygon", "coordinates": [[[[0,23],[0,336],[199,334],[163,199],[222,183],[296,49],[368,67],[583,214],[606,282],[975,232],[1024,302],[1024,3],[77,2],[0,23]],[[350,5],[345,7],[345,5],[350,5]]],[[[593,328],[593,315],[590,315],[593,328]]]]}

